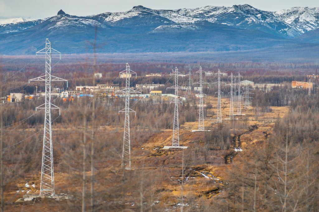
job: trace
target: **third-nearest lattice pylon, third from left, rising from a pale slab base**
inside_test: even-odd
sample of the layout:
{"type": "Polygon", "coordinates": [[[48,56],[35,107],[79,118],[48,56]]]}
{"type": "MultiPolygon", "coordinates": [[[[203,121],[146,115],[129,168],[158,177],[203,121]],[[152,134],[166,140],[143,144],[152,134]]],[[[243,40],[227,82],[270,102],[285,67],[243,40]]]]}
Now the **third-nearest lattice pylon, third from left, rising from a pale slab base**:
{"type": "Polygon", "coordinates": [[[174,85],[168,88],[175,89],[175,99],[174,101],[171,101],[171,103],[175,104],[172,146],[179,147],[178,104],[182,103],[182,101],[178,100],[178,89],[181,89],[182,87],[178,85],[178,76],[182,74],[178,72],[177,67],[175,67],[175,72],[171,74],[174,75],[174,85]]]}

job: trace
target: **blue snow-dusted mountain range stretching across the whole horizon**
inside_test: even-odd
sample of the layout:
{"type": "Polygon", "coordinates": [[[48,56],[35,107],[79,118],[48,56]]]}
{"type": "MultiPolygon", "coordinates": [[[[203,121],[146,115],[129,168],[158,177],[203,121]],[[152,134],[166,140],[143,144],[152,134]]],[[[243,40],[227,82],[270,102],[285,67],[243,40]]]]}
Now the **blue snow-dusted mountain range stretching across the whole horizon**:
{"type": "Polygon", "coordinates": [[[29,52],[50,38],[58,41],[61,51],[83,53],[86,41],[94,39],[95,26],[100,43],[106,44],[101,52],[237,51],[319,43],[311,33],[297,39],[318,28],[318,8],[270,12],[248,4],[178,10],[139,5],[81,17],[60,10],[53,17],[0,24],[0,52],[29,52]]]}

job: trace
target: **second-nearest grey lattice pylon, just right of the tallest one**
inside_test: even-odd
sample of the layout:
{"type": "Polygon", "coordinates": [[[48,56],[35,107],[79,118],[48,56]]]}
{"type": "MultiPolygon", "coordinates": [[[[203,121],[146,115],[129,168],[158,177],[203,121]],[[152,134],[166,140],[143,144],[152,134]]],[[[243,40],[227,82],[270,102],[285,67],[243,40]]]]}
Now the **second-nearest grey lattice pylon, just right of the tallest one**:
{"type": "Polygon", "coordinates": [[[125,89],[116,91],[116,93],[124,93],[125,95],[125,108],[120,110],[119,113],[125,113],[124,121],[124,135],[123,135],[123,151],[122,151],[122,168],[131,170],[131,140],[130,140],[130,113],[136,112],[130,109],[130,93],[140,93],[130,88],[130,77],[136,72],[130,69],[130,65],[126,63],[126,69],[120,74],[125,76],[125,89]]]}

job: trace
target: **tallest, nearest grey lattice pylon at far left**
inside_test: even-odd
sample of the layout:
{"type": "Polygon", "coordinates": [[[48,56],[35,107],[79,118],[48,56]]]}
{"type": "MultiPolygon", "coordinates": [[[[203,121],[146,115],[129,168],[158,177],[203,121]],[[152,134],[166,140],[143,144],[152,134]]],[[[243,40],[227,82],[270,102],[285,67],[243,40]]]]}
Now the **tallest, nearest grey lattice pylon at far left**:
{"type": "Polygon", "coordinates": [[[30,79],[30,81],[45,81],[45,103],[35,109],[44,109],[44,133],[43,133],[43,150],[42,150],[42,165],[41,165],[41,195],[55,195],[54,189],[54,171],[53,171],[53,148],[52,148],[52,128],[51,128],[51,109],[59,109],[59,107],[51,103],[51,82],[66,81],[65,79],[51,75],[51,54],[60,54],[61,52],[51,48],[49,39],[46,39],[45,48],[36,52],[37,54],[45,54],[45,75],[30,79]]]}

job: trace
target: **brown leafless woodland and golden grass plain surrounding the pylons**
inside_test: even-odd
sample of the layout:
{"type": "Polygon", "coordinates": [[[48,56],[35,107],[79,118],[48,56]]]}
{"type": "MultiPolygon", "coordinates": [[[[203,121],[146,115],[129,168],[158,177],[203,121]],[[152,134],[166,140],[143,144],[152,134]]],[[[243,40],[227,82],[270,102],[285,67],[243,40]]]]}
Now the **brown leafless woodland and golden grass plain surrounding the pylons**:
{"type": "MultiPolygon", "coordinates": [[[[7,60],[7,58],[2,59],[7,60]]],[[[28,79],[43,72],[34,59],[28,67],[13,61],[0,64],[1,96],[10,92],[35,93],[28,79]],[[21,70],[21,71],[19,71],[21,70]],[[18,71],[18,72],[17,72],[18,71]]],[[[0,61],[1,62],[1,61],[0,61]]],[[[41,61],[43,62],[43,61],[41,61]]],[[[145,77],[145,73],[181,72],[197,64],[132,63],[136,84],[173,85],[173,77],[145,77]]],[[[215,123],[215,76],[204,77],[205,129],[198,127],[198,98],[180,91],[180,142],[187,149],[163,150],[172,142],[174,105],[166,98],[131,98],[136,116],[130,116],[132,170],[121,168],[125,99],[94,95],[73,101],[52,97],[53,158],[56,194],[72,198],[56,201],[39,194],[44,111],[34,108],[44,98],[22,99],[0,105],[1,207],[5,211],[318,211],[319,210],[319,93],[292,89],[291,81],[307,80],[314,64],[220,63],[201,64],[203,70],[241,74],[255,83],[282,83],[271,91],[251,90],[251,108],[236,119],[229,116],[228,85],[222,85],[223,122],[215,123]],[[242,151],[237,151],[241,148],[242,151]]],[[[118,83],[123,64],[57,63],[52,70],[76,85],[118,83]],[[103,73],[93,78],[93,69],[103,73]]],[[[222,78],[226,84],[228,77],[222,78]]],[[[188,76],[180,78],[188,86],[188,76]]],[[[56,87],[65,87],[65,84],[56,87]]],[[[193,85],[192,85],[193,86],[193,85]]],[[[39,85],[38,90],[44,90],[39,85]]],[[[236,96],[234,97],[237,98],[236,96]]],[[[4,98],[5,102],[6,99],[4,98]]],[[[234,108],[237,109],[237,105],[234,108]]]]}

